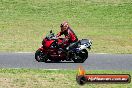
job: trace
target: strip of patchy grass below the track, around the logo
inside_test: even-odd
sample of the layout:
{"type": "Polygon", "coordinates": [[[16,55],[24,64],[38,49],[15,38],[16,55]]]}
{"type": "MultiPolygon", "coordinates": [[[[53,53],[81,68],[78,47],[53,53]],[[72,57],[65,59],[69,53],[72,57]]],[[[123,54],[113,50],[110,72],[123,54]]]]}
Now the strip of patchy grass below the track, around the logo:
{"type": "MultiPolygon", "coordinates": [[[[76,82],[77,70],[0,69],[0,88],[131,88],[128,84],[85,84],[76,82]]],[[[89,70],[87,74],[130,74],[132,71],[89,70]]]]}

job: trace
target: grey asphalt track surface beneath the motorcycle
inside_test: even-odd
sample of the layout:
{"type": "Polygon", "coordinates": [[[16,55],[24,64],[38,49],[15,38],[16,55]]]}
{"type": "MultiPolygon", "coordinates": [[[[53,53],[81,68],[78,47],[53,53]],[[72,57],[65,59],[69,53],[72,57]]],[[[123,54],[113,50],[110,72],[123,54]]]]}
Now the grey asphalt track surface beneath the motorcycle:
{"type": "Polygon", "coordinates": [[[34,53],[0,53],[0,68],[132,70],[132,54],[89,54],[84,63],[44,63],[34,59],[34,53]]]}

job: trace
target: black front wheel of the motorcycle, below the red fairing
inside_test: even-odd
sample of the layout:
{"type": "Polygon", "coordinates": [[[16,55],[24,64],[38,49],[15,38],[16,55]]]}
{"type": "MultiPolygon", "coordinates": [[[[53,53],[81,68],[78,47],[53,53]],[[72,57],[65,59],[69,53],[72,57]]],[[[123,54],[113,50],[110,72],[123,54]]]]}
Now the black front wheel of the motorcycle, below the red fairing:
{"type": "Polygon", "coordinates": [[[42,51],[40,51],[40,50],[36,51],[36,53],[35,53],[35,59],[38,62],[46,62],[48,60],[47,56],[42,51]]]}

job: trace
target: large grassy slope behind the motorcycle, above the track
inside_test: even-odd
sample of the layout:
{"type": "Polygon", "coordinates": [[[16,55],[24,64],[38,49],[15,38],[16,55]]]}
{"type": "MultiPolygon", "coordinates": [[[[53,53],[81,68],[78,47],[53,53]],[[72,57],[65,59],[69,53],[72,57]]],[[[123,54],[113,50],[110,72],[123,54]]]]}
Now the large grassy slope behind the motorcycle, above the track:
{"type": "Polygon", "coordinates": [[[0,51],[35,51],[66,20],[91,52],[132,53],[131,0],[0,0],[0,51]]]}

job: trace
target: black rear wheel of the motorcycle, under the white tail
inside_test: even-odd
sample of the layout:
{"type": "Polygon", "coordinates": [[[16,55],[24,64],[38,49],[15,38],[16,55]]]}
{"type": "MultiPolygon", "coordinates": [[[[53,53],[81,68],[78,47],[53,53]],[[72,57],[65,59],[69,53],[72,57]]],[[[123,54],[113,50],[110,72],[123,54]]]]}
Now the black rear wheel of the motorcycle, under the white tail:
{"type": "Polygon", "coordinates": [[[75,63],[83,63],[88,58],[88,51],[83,49],[82,51],[75,53],[73,61],[75,63]]]}

